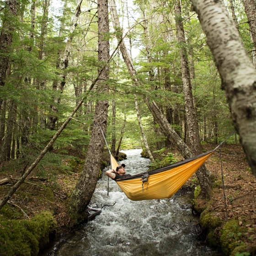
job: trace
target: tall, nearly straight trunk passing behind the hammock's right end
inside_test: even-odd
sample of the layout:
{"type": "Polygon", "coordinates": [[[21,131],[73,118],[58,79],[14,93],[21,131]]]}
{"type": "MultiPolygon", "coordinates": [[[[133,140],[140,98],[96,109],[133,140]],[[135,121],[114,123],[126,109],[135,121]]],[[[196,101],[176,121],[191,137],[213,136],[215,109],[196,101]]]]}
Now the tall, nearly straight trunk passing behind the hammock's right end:
{"type": "MultiPolygon", "coordinates": [[[[175,8],[175,20],[178,43],[180,44],[180,60],[181,60],[181,77],[183,84],[183,94],[185,102],[185,112],[187,119],[187,132],[189,143],[192,148],[193,156],[200,155],[202,153],[202,145],[199,136],[199,128],[197,123],[196,109],[193,103],[192,86],[190,80],[190,72],[187,61],[187,49],[186,40],[183,28],[183,21],[181,16],[181,5],[180,2],[176,2],[175,8]]],[[[203,164],[196,172],[197,179],[200,184],[201,194],[204,198],[210,198],[212,189],[212,174],[207,170],[203,164]]]]}

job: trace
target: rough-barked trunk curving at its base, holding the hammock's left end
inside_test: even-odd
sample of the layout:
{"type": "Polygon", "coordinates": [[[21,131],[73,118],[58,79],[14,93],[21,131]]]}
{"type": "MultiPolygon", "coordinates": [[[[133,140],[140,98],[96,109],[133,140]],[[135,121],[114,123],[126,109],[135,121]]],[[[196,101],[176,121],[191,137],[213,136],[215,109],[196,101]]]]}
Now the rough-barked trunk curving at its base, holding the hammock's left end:
{"type": "MultiPolygon", "coordinates": [[[[106,35],[109,33],[109,20],[108,20],[108,4],[107,0],[98,0],[98,60],[99,63],[107,63],[109,61],[109,41],[106,35]]],[[[106,81],[109,78],[109,67],[101,72],[99,92],[106,91],[106,81]]],[[[107,130],[107,110],[108,101],[98,101],[96,103],[94,121],[92,126],[91,140],[88,147],[88,153],[85,159],[83,171],[79,180],[72,192],[69,206],[71,216],[75,216],[73,221],[80,222],[86,218],[85,210],[91,201],[91,197],[95,190],[99,171],[102,161],[102,153],[104,149],[104,138],[101,134],[102,127],[103,133],[107,130]]]]}

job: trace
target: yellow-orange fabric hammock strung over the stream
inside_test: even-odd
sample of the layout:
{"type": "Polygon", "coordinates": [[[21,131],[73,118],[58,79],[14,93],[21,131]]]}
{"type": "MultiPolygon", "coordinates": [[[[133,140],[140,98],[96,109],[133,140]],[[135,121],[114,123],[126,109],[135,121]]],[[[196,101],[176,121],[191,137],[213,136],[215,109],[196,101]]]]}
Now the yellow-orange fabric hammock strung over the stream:
{"type": "MultiPolygon", "coordinates": [[[[126,196],[133,200],[149,200],[172,197],[182,185],[203,165],[214,150],[168,165],[153,171],[133,175],[117,180],[117,185],[126,196]]],[[[110,155],[111,168],[118,163],[110,155]]]]}

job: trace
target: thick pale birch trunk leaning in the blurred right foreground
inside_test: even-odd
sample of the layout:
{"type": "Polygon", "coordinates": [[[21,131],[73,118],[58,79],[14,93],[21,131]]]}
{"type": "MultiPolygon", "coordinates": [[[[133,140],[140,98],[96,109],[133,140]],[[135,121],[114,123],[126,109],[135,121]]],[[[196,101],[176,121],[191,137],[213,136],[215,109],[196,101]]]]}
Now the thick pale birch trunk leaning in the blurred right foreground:
{"type": "Polygon", "coordinates": [[[256,176],[256,70],[224,3],[192,0],[222,80],[248,163],[256,176]]]}

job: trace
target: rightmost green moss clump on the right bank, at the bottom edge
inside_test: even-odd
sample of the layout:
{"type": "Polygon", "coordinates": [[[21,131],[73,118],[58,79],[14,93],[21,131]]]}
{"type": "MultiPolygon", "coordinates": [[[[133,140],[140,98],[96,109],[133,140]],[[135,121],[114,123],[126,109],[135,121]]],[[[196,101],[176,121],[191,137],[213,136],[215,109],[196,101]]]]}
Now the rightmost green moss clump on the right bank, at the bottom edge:
{"type": "Polygon", "coordinates": [[[224,255],[231,255],[235,247],[243,245],[241,238],[244,233],[246,233],[246,228],[245,226],[240,226],[238,220],[231,219],[224,225],[220,235],[224,255]]]}

